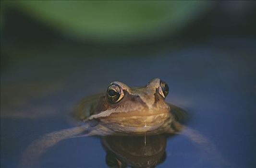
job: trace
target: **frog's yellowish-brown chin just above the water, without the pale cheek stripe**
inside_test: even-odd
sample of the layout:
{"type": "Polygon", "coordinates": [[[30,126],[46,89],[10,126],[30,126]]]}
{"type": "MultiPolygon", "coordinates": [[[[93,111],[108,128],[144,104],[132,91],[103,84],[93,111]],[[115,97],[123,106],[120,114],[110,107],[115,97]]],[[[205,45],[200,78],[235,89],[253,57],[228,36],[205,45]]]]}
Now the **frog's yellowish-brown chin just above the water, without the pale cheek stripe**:
{"type": "Polygon", "coordinates": [[[154,113],[147,112],[146,115],[145,113],[141,114],[141,112],[133,111],[129,112],[129,114],[115,114],[100,120],[104,126],[114,132],[144,134],[145,132],[157,132],[159,128],[170,120],[170,113],[169,110],[161,110],[154,113]]]}

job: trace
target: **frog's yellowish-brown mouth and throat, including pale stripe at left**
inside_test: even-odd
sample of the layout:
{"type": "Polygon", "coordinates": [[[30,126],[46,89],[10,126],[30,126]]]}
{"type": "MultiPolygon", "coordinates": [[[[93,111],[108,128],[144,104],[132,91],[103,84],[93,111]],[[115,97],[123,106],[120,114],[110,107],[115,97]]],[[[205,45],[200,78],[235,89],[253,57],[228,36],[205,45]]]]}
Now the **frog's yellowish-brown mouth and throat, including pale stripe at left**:
{"type": "Polygon", "coordinates": [[[92,115],[89,120],[98,119],[115,132],[141,133],[158,129],[166,120],[171,119],[168,108],[152,110],[134,110],[129,112],[114,112],[107,110],[105,113],[92,115]]]}

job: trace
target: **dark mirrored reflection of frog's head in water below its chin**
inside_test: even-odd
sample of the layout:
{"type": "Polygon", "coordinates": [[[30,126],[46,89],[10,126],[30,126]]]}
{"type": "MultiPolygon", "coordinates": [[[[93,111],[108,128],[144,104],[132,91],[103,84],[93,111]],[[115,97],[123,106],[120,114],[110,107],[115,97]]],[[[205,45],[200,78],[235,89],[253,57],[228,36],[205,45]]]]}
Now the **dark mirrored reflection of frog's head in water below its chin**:
{"type": "Polygon", "coordinates": [[[146,136],[146,143],[144,136],[103,136],[101,143],[110,168],[152,168],[163,162],[166,156],[166,137],[163,134],[146,136]]]}

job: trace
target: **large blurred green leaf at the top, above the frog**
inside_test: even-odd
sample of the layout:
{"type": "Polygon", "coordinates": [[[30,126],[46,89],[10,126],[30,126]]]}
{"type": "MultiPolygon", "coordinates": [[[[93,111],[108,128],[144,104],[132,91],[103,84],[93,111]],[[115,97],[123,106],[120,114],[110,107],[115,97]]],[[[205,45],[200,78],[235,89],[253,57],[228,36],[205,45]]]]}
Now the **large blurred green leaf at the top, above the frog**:
{"type": "Polygon", "coordinates": [[[41,22],[76,38],[128,41],[175,33],[206,1],[12,1],[41,22]]]}

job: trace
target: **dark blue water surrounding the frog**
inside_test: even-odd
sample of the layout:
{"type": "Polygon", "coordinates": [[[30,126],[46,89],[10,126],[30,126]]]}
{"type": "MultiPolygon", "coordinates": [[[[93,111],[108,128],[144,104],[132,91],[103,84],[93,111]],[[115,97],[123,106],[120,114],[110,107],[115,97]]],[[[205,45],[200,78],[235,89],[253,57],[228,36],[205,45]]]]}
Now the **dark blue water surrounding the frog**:
{"type": "MultiPolygon", "coordinates": [[[[154,147],[164,148],[166,141],[166,147],[156,156],[159,168],[253,168],[255,44],[248,39],[212,39],[164,50],[154,57],[109,58],[102,54],[100,58],[58,59],[50,57],[56,53],[45,52],[16,62],[9,71],[1,73],[1,167],[19,167],[24,150],[33,140],[71,128],[74,123],[69,120],[69,113],[80,98],[104,92],[111,81],[141,86],[159,77],[171,89],[167,102],[188,112],[187,126],[207,137],[222,158],[213,159],[183,135],[155,138],[156,141],[149,140],[155,143],[153,147],[145,150],[149,154],[154,147]]],[[[100,137],[61,141],[49,148],[35,167],[107,167],[107,149],[101,142],[100,137]]],[[[124,141],[127,146],[134,146],[133,140],[129,142],[124,141]]],[[[108,164],[114,162],[113,157],[113,151],[108,152],[108,164]]],[[[140,157],[136,158],[139,162],[140,157]]]]}

